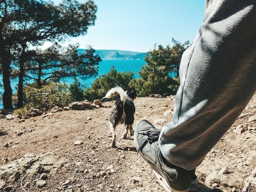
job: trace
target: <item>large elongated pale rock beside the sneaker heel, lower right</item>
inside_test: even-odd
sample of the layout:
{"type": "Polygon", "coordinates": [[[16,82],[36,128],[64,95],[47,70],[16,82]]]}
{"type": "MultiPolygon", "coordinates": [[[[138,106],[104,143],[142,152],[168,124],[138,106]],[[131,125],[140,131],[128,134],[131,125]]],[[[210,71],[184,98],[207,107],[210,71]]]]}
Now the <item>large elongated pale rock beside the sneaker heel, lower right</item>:
{"type": "Polygon", "coordinates": [[[231,188],[241,188],[243,187],[243,182],[237,179],[230,178],[225,175],[220,175],[216,171],[209,174],[205,179],[206,185],[211,185],[213,183],[218,183],[221,185],[227,185],[231,188]]]}

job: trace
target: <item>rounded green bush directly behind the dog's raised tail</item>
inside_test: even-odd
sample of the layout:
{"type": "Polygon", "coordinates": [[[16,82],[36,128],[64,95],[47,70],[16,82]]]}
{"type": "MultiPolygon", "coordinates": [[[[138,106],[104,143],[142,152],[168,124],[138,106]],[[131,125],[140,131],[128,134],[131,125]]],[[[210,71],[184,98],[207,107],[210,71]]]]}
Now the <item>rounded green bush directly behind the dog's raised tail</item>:
{"type": "Polygon", "coordinates": [[[92,86],[85,89],[84,98],[87,100],[100,99],[106,95],[109,89],[120,86],[123,88],[128,87],[128,83],[132,80],[134,73],[118,72],[117,69],[111,67],[107,74],[99,76],[92,83],[92,86]]]}

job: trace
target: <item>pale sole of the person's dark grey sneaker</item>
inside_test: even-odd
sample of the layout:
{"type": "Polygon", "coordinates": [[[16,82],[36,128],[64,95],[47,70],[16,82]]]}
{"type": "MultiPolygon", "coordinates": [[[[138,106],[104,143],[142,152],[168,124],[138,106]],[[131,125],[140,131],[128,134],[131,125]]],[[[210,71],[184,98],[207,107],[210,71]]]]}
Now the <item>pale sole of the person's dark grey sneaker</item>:
{"type": "MultiPolygon", "coordinates": [[[[134,141],[135,141],[135,137],[134,137],[134,141]]],[[[137,142],[135,141],[135,147],[136,150],[138,151],[138,146],[137,146],[137,142]]],[[[164,188],[164,190],[166,190],[166,192],[189,192],[189,188],[187,190],[184,191],[179,191],[179,190],[175,190],[172,189],[171,186],[169,185],[169,183],[164,179],[164,177],[161,175],[161,170],[159,170],[155,165],[153,165],[153,163],[151,163],[150,161],[148,161],[148,159],[146,159],[144,157],[144,155],[139,151],[140,156],[148,162],[148,164],[150,165],[151,169],[153,170],[153,173],[155,174],[155,176],[157,177],[160,185],[162,185],[162,187],[164,188]]]]}

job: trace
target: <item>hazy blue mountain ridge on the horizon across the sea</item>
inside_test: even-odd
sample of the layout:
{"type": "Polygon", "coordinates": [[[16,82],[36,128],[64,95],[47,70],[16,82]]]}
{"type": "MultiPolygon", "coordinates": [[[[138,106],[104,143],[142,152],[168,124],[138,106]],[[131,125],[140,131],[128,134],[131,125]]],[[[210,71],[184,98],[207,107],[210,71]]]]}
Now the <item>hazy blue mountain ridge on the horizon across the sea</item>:
{"type": "MultiPolygon", "coordinates": [[[[84,49],[77,49],[79,53],[83,53],[84,49]]],[[[96,54],[102,60],[140,60],[146,57],[147,53],[122,50],[95,50],[96,54]]]]}

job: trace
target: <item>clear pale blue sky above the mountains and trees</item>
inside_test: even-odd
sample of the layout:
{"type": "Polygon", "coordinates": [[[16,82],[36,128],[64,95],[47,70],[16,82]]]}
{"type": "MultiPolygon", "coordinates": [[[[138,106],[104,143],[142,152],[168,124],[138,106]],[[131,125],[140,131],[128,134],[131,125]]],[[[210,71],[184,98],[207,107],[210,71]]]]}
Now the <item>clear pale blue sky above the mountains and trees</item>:
{"type": "MultiPolygon", "coordinates": [[[[58,5],[61,0],[52,0],[58,5]]],[[[85,3],[86,0],[79,0],[85,3]]],[[[193,42],[203,22],[204,0],[94,0],[95,25],[71,38],[79,48],[148,52],[173,45],[172,38],[193,42]]],[[[47,46],[47,45],[46,45],[47,46]]]]}

